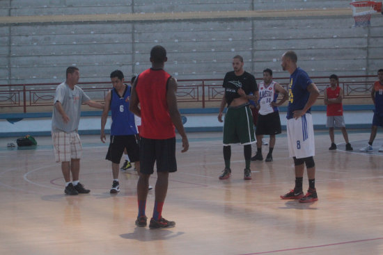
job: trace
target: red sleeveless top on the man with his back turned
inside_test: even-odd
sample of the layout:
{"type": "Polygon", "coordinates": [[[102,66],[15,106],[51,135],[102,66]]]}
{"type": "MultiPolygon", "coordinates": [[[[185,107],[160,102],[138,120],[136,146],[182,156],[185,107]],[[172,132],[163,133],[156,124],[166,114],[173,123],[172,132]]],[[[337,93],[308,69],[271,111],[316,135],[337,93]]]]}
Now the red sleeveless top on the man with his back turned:
{"type": "Polygon", "coordinates": [[[146,69],[137,78],[136,92],[141,108],[140,135],[148,139],[175,137],[175,129],[166,101],[171,75],[163,69],[146,69]]]}

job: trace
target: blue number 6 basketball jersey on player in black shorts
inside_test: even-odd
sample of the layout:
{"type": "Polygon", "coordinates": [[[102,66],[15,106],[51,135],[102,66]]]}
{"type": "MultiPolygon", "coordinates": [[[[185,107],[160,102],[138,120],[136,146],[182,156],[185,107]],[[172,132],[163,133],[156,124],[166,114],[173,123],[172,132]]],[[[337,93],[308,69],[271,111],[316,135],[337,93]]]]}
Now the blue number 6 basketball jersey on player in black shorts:
{"type": "Polygon", "coordinates": [[[134,114],[129,110],[130,86],[126,86],[123,97],[111,90],[111,135],[134,135],[137,133],[134,114]]]}

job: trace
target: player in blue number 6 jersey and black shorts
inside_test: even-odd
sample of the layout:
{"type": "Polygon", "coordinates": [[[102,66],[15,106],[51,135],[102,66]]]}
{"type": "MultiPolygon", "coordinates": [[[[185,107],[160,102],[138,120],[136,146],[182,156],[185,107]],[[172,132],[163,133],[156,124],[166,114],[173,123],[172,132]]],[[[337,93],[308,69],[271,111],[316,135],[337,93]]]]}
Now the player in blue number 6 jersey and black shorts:
{"type": "Polygon", "coordinates": [[[113,173],[113,184],[111,194],[120,192],[118,181],[118,171],[120,160],[124,149],[130,161],[136,165],[139,172],[139,144],[136,141],[136,125],[134,124],[134,114],[129,110],[131,87],[124,84],[124,74],[120,70],[111,72],[110,75],[113,89],[105,97],[104,111],[101,117],[101,141],[105,142],[104,128],[107,123],[108,113],[111,110],[111,137],[107,153],[108,161],[111,161],[113,173]]]}

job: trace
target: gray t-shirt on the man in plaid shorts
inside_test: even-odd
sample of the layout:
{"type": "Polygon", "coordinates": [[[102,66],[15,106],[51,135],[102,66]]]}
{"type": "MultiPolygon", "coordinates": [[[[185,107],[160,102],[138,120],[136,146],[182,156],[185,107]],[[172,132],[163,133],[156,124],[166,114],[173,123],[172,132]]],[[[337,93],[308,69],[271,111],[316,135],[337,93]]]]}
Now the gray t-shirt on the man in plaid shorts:
{"type": "Polygon", "coordinates": [[[77,131],[79,129],[81,104],[89,100],[91,99],[77,85],[75,85],[73,90],[65,82],[58,85],[54,96],[54,104],[56,104],[56,101],[59,101],[70,120],[64,123],[63,116],[61,116],[56,107],[53,107],[52,132],[64,131],[65,133],[70,133],[77,131]]]}

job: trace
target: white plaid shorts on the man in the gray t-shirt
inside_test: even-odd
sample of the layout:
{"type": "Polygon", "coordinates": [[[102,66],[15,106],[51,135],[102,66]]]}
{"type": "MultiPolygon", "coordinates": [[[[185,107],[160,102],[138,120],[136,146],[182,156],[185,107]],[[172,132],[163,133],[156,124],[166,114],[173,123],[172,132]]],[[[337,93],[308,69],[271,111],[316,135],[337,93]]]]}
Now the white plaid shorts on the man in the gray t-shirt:
{"type": "Polygon", "coordinates": [[[54,158],[56,162],[70,161],[81,158],[82,146],[77,132],[52,132],[54,158]]]}

